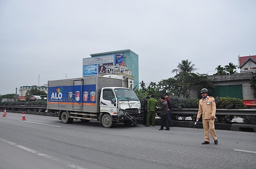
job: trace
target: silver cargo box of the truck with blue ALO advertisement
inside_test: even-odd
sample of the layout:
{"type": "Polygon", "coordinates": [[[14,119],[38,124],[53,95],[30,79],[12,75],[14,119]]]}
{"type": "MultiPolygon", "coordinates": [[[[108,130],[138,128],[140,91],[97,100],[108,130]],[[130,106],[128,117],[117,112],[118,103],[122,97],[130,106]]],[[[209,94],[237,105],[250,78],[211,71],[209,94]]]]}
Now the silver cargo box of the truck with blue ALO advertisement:
{"type": "Polygon", "coordinates": [[[122,80],[91,76],[48,81],[47,109],[99,113],[101,88],[112,86],[122,87],[122,80]]]}

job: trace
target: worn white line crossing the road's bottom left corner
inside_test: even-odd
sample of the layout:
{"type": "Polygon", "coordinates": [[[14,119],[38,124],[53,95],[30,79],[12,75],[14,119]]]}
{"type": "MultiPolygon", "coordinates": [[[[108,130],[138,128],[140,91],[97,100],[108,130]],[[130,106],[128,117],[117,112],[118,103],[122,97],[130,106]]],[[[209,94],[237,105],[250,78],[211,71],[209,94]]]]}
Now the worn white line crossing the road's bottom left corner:
{"type": "Polygon", "coordinates": [[[10,145],[15,145],[15,147],[18,147],[22,150],[25,150],[27,152],[31,152],[31,153],[35,153],[36,155],[40,156],[40,157],[44,157],[46,159],[50,159],[50,160],[53,160],[53,161],[56,161],[56,162],[60,162],[62,164],[65,164],[67,167],[70,167],[70,168],[73,168],[73,169],[87,169],[87,168],[84,168],[84,167],[80,167],[80,166],[77,166],[76,164],[72,164],[70,162],[67,162],[67,161],[63,161],[61,159],[58,159],[58,158],[55,158],[55,157],[52,157],[51,155],[48,155],[48,154],[43,154],[41,152],[38,152],[36,150],[33,150],[33,149],[29,149],[28,147],[25,147],[23,145],[17,145],[16,143],[14,142],[10,142],[10,141],[7,141],[7,140],[4,140],[2,138],[0,138],[0,141],[3,141],[5,143],[8,143],[10,145]]]}

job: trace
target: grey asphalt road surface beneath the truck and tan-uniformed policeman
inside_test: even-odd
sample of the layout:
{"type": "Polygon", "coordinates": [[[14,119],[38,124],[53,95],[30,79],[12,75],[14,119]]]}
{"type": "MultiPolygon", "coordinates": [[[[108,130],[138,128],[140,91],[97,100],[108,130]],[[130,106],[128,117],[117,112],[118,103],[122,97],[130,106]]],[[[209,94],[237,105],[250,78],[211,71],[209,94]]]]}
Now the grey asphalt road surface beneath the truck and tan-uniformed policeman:
{"type": "Polygon", "coordinates": [[[3,169],[253,169],[256,133],[216,130],[218,145],[202,145],[203,129],[159,126],[103,128],[99,122],[8,113],[0,117],[3,169]]]}

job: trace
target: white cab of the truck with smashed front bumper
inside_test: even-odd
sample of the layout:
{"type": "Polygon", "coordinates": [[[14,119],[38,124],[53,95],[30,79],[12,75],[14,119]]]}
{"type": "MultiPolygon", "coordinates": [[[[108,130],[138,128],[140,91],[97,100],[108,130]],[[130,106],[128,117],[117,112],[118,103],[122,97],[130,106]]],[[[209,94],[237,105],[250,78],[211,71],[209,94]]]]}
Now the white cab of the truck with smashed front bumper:
{"type": "Polygon", "coordinates": [[[137,125],[134,119],[140,117],[140,100],[130,88],[107,87],[100,95],[101,123],[111,127],[115,122],[137,125]],[[110,125],[110,126],[109,126],[110,125]]]}

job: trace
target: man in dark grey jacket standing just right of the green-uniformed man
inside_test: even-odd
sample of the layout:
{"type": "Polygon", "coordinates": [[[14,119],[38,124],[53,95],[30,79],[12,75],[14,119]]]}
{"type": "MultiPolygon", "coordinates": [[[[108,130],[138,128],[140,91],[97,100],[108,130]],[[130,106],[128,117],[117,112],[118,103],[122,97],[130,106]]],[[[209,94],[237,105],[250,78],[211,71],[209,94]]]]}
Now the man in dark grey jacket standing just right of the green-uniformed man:
{"type": "Polygon", "coordinates": [[[158,110],[161,110],[161,128],[159,130],[170,130],[168,124],[168,103],[165,100],[164,96],[161,96],[161,107],[157,107],[158,110]],[[166,127],[166,129],[164,129],[166,127]]]}

